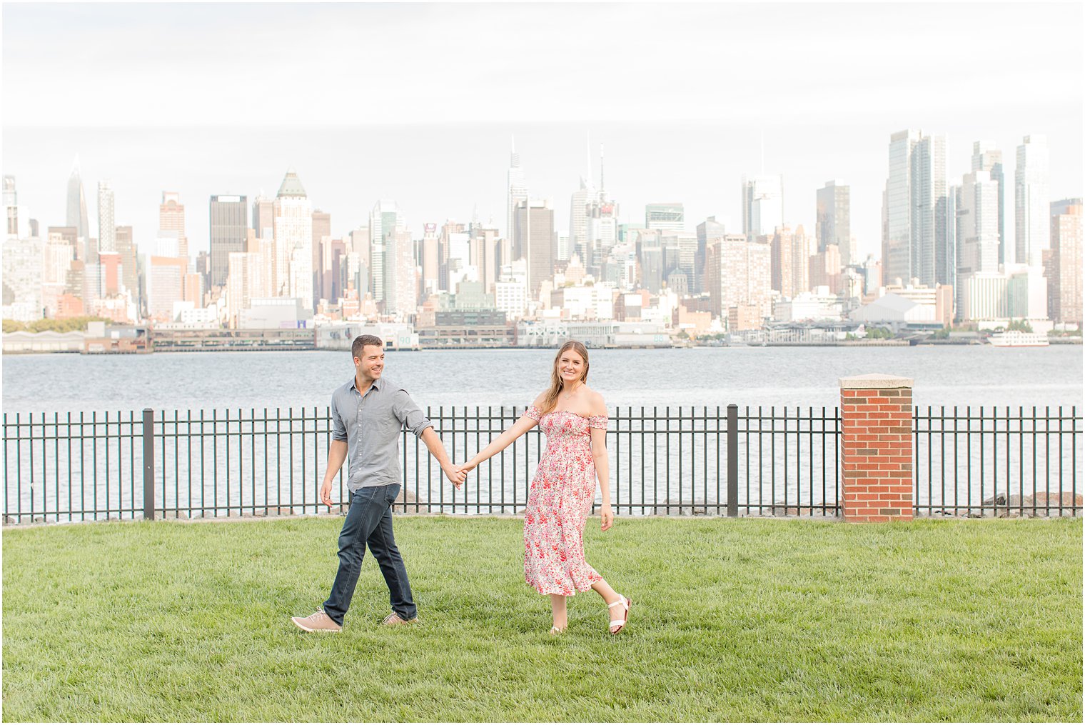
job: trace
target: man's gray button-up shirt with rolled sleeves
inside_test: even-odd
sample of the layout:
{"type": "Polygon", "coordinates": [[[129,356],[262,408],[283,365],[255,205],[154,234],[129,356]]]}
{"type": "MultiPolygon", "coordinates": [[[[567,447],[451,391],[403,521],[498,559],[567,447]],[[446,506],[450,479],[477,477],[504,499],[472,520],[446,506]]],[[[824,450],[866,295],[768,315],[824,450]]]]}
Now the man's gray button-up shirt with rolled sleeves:
{"type": "Polygon", "coordinates": [[[332,393],[332,437],[346,441],[349,453],[347,488],[403,483],[399,434],[406,425],[421,437],[433,423],[407,391],[383,376],[365,393],[355,378],[332,393]]]}

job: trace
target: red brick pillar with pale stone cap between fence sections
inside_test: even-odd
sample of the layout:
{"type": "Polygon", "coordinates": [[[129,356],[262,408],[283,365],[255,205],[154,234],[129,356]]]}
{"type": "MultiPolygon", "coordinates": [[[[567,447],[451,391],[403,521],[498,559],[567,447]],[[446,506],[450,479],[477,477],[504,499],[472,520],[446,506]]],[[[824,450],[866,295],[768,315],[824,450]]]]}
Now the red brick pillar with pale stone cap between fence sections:
{"type": "Polygon", "coordinates": [[[910,521],[911,379],[840,379],[844,521],[910,521]]]}

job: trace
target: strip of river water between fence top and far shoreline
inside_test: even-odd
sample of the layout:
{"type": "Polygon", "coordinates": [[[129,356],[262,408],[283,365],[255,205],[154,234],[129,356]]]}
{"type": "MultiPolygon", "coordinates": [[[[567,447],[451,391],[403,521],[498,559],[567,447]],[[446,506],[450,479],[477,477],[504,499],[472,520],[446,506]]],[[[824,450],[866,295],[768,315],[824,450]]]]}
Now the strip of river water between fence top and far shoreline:
{"type": "MultiPolygon", "coordinates": [[[[523,406],[552,352],[388,353],[385,374],[426,406],[523,406]]],[[[588,384],[613,406],[834,406],[838,380],[915,380],[919,406],[1082,406],[1082,346],[745,347],[590,353],[588,384]]],[[[350,378],[345,352],[5,355],[3,411],[326,406],[350,378]]]]}

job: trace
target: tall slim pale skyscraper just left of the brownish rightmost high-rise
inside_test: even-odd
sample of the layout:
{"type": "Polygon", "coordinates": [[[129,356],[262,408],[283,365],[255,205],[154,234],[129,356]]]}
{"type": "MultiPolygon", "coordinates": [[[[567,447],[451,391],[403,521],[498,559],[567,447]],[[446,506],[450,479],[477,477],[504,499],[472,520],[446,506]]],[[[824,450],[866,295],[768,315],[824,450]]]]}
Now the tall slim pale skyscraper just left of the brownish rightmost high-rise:
{"type": "Polygon", "coordinates": [[[1051,246],[1047,167],[1047,138],[1036,133],[1024,137],[1013,173],[1017,264],[1039,266],[1044,250],[1051,246]]]}

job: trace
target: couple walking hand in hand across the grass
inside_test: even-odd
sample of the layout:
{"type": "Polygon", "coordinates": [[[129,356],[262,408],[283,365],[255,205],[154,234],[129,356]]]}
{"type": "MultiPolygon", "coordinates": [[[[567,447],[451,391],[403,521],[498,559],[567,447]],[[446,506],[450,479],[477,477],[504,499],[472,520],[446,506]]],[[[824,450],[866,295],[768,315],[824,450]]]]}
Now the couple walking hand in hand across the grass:
{"type": "Polygon", "coordinates": [[[332,443],[320,500],[332,505],[332,481],[350,455],[347,487],[350,507],[339,537],[339,571],[323,606],[309,616],[292,621],[306,632],[339,632],[350,607],[366,547],[376,559],[391,594],[392,613],[384,624],[409,624],[418,609],[411,599],[407,569],[392,534],[392,504],[403,483],[399,434],[406,425],[441,463],[459,488],[476,466],[503,450],[538,424],[546,450],[532,480],[524,510],[524,577],[553,609],[550,634],[569,623],[565,598],[593,589],[610,611],[611,634],[625,627],[631,601],[615,592],[584,560],[584,524],[602,487],[602,530],[614,523],[610,505],[610,466],[607,458],[607,406],[587,386],[588,351],[570,341],[558,351],[550,387],[509,430],[457,466],[418,404],[407,391],[382,376],[384,345],[380,338],[355,339],[355,376],[332,395],[332,443]]]}

